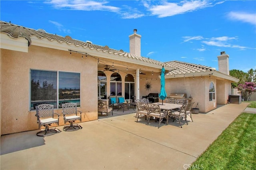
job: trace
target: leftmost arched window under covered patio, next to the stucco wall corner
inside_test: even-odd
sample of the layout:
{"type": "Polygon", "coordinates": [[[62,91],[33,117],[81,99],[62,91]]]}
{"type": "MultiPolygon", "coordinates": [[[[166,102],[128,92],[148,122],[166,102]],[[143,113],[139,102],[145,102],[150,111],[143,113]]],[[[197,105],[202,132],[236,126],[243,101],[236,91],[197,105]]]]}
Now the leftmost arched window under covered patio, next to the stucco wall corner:
{"type": "Polygon", "coordinates": [[[107,77],[102,71],[98,71],[98,98],[107,99],[107,77]]]}

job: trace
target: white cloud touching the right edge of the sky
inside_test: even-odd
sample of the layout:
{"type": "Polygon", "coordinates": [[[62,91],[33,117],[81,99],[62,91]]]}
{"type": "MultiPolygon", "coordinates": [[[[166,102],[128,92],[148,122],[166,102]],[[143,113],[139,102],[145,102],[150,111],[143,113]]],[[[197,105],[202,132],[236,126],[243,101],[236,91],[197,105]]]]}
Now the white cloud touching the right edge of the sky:
{"type": "Polygon", "coordinates": [[[228,18],[230,18],[230,20],[238,20],[251,23],[252,25],[256,26],[256,14],[250,14],[246,12],[229,12],[228,18]]]}

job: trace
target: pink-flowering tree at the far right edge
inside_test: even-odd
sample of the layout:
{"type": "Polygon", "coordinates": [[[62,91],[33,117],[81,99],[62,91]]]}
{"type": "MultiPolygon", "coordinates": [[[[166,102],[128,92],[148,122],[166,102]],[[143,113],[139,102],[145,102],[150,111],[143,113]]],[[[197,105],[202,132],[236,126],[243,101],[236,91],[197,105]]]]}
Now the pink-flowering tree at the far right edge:
{"type": "Polygon", "coordinates": [[[245,82],[244,84],[239,84],[238,88],[242,90],[244,99],[250,101],[252,93],[256,92],[256,83],[245,82]]]}

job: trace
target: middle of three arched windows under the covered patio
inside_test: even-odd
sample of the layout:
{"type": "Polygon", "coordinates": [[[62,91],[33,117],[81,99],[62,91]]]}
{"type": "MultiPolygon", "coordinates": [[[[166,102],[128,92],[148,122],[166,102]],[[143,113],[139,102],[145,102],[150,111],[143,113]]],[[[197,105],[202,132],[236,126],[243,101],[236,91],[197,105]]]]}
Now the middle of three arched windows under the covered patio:
{"type": "Polygon", "coordinates": [[[122,78],[117,72],[110,77],[110,95],[122,96],[122,78]]]}

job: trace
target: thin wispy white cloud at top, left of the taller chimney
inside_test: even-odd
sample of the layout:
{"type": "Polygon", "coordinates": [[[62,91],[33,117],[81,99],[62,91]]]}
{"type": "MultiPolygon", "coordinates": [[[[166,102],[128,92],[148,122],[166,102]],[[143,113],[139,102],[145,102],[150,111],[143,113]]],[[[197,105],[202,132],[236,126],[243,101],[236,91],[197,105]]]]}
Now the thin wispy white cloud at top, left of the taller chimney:
{"type": "Polygon", "coordinates": [[[92,0],[49,0],[45,3],[52,4],[54,8],[64,8],[68,10],[84,10],[84,11],[110,11],[118,12],[120,8],[108,6],[107,1],[92,1],[92,0]]]}

